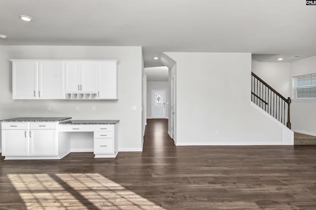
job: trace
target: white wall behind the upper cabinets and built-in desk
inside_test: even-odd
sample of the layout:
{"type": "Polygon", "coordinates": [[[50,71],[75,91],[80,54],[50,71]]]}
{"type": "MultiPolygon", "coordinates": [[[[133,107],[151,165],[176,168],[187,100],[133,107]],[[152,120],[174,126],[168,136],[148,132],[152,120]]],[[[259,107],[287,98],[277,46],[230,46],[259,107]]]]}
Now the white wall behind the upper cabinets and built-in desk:
{"type": "MultiPolygon", "coordinates": [[[[142,48],[108,46],[0,46],[0,119],[13,117],[71,116],[73,119],[118,119],[118,146],[125,150],[142,145],[142,48]],[[9,58],[118,59],[118,100],[12,100],[9,58]],[[47,106],[51,111],[47,111],[47,106]],[[76,111],[76,105],[80,111],[76,111]],[[91,106],[96,111],[91,110],[91,106]],[[137,111],[131,111],[137,105],[137,111]]],[[[73,135],[72,147],[92,145],[89,135],[73,135]],[[81,137],[81,140],[78,138],[81,137]],[[83,139],[82,139],[83,138],[83,139]],[[81,143],[80,143],[81,142],[81,143]]]]}

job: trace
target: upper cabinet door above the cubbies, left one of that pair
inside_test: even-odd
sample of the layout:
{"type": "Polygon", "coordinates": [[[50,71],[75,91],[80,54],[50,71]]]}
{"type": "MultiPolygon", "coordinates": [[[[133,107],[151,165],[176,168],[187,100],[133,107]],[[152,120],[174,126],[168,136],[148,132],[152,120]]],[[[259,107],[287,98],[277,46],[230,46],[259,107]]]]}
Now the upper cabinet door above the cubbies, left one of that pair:
{"type": "Polygon", "coordinates": [[[65,91],[79,92],[80,62],[65,63],[65,91]]]}

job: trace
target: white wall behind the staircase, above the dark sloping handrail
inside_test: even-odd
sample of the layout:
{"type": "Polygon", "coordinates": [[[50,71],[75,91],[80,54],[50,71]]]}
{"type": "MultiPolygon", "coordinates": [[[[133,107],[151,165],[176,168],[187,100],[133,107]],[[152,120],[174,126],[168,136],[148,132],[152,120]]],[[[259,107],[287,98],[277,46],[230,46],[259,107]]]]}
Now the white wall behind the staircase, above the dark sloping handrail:
{"type": "Polygon", "coordinates": [[[251,70],[285,98],[291,97],[291,65],[287,62],[252,60],[251,70]]]}

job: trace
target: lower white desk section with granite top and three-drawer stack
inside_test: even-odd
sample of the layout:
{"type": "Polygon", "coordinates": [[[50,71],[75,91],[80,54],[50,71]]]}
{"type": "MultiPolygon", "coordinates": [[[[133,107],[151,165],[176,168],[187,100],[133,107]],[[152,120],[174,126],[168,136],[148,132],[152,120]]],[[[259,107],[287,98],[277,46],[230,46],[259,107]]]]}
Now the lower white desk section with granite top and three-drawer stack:
{"type": "Polygon", "coordinates": [[[95,158],[115,158],[118,154],[119,120],[69,120],[59,124],[60,132],[93,132],[95,158]]]}

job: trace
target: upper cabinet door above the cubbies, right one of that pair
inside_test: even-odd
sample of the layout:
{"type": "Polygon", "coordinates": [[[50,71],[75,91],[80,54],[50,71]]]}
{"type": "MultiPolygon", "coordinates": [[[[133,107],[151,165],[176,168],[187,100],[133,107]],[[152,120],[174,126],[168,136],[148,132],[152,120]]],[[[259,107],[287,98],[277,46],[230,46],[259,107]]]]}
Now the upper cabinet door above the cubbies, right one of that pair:
{"type": "Polygon", "coordinates": [[[96,63],[81,63],[80,91],[96,92],[96,63]]]}

